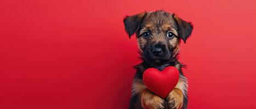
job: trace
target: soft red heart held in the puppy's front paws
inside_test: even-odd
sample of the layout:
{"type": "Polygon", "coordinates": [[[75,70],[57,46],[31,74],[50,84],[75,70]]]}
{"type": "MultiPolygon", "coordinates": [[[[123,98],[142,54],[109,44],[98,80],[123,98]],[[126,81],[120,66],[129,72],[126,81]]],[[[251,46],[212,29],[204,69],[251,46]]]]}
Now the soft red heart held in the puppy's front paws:
{"type": "Polygon", "coordinates": [[[179,81],[179,70],[168,66],[162,71],[149,68],[144,71],[143,82],[153,93],[165,99],[179,81]]]}

